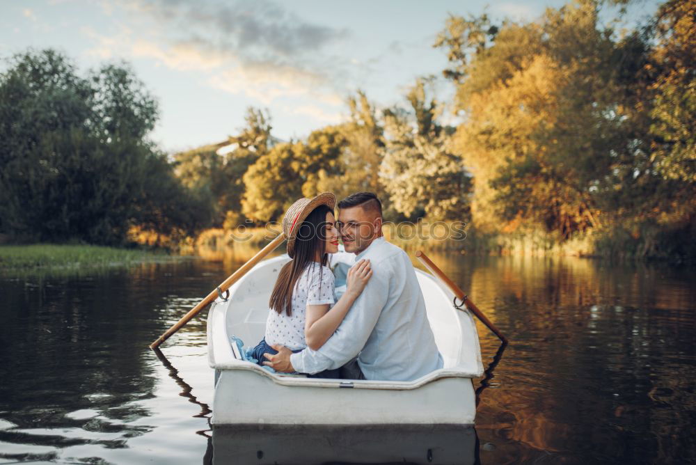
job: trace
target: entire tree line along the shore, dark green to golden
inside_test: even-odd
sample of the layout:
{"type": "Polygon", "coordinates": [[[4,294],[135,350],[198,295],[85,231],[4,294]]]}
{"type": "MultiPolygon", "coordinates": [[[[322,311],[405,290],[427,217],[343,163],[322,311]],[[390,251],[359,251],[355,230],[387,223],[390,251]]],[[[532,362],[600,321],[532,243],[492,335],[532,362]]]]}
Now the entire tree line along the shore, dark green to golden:
{"type": "MultiPolygon", "coordinates": [[[[624,9],[600,19],[616,4],[452,15],[433,44],[448,68],[402,104],[358,90],[344,122],[290,141],[250,108],[225,141],[173,154],[149,139],[157,99],[127,63],[80,74],[30,49],[0,73],[0,237],[196,253],[240,226],[262,244],[301,196],[374,191],[393,223],[466,223],[464,240],[390,236],[406,248],[694,262],[696,1],[622,30],[624,9]]],[[[0,246],[0,267],[39,250],[0,246]]]]}

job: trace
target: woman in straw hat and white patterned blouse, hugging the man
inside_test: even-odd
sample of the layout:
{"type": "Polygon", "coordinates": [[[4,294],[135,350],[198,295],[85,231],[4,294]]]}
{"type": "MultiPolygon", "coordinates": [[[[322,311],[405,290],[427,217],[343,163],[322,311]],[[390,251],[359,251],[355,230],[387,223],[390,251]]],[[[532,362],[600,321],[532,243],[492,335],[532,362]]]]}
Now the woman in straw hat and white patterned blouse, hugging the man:
{"type": "MultiPolygon", "coordinates": [[[[356,263],[348,272],[347,291],[335,301],[328,266],[329,253],[338,252],[335,205],[335,196],[324,192],[297,200],[285,212],[283,232],[292,260],[280,269],[269,301],[265,336],[251,353],[260,365],[266,360],[263,354],[278,353],[272,345],[284,345],[293,352],[322,347],[372,276],[369,260],[356,263]]],[[[310,377],[338,378],[338,370],[310,377]]]]}

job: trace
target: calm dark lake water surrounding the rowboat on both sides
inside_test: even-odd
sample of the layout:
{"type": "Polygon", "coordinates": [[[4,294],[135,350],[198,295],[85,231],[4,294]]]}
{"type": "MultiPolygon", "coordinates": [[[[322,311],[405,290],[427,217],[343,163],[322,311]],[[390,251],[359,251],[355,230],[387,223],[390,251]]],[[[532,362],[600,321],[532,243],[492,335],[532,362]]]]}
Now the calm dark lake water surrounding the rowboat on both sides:
{"type": "MultiPolygon", "coordinates": [[[[510,340],[462,463],[696,461],[693,269],[430,256],[510,340]]],[[[237,266],[0,276],[0,463],[209,463],[206,313],[164,357],[148,344],[237,266]]],[[[488,365],[498,342],[479,334],[488,365]]]]}

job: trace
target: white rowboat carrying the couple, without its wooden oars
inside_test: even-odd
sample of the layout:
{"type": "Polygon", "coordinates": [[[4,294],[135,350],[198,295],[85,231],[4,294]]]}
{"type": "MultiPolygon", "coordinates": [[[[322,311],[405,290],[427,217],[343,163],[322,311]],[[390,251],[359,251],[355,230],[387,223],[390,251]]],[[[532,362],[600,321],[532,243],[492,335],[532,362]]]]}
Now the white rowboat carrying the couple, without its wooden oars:
{"type": "Polygon", "coordinates": [[[258,263],[212,304],[207,320],[208,361],[215,370],[211,423],[219,427],[473,426],[472,379],[483,364],[476,324],[454,308],[454,295],[416,270],[427,317],[444,368],[413,381],[347,381],[287,376],[244,361],[230,344],[256,345],[264,335],[268,301],[287,255],[258,263]]]}

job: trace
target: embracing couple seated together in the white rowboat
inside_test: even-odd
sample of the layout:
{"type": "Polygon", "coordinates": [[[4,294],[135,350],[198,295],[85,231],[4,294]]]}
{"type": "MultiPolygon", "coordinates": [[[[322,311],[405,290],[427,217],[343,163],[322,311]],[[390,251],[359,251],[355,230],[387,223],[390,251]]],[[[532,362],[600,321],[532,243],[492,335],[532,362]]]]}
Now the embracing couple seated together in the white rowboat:
{"type": "Polygon", "coordinates": [[[283,217],[287,262],[269,302],[260,364],[309,377],[411,381],[443,367],[409,256],[381,232],[379,198],[301,198],[283,217]],[[338,218],[338,220],[337,220],[338,218]],[[339,239],[355,254],[335,299],[339,239]]]}

